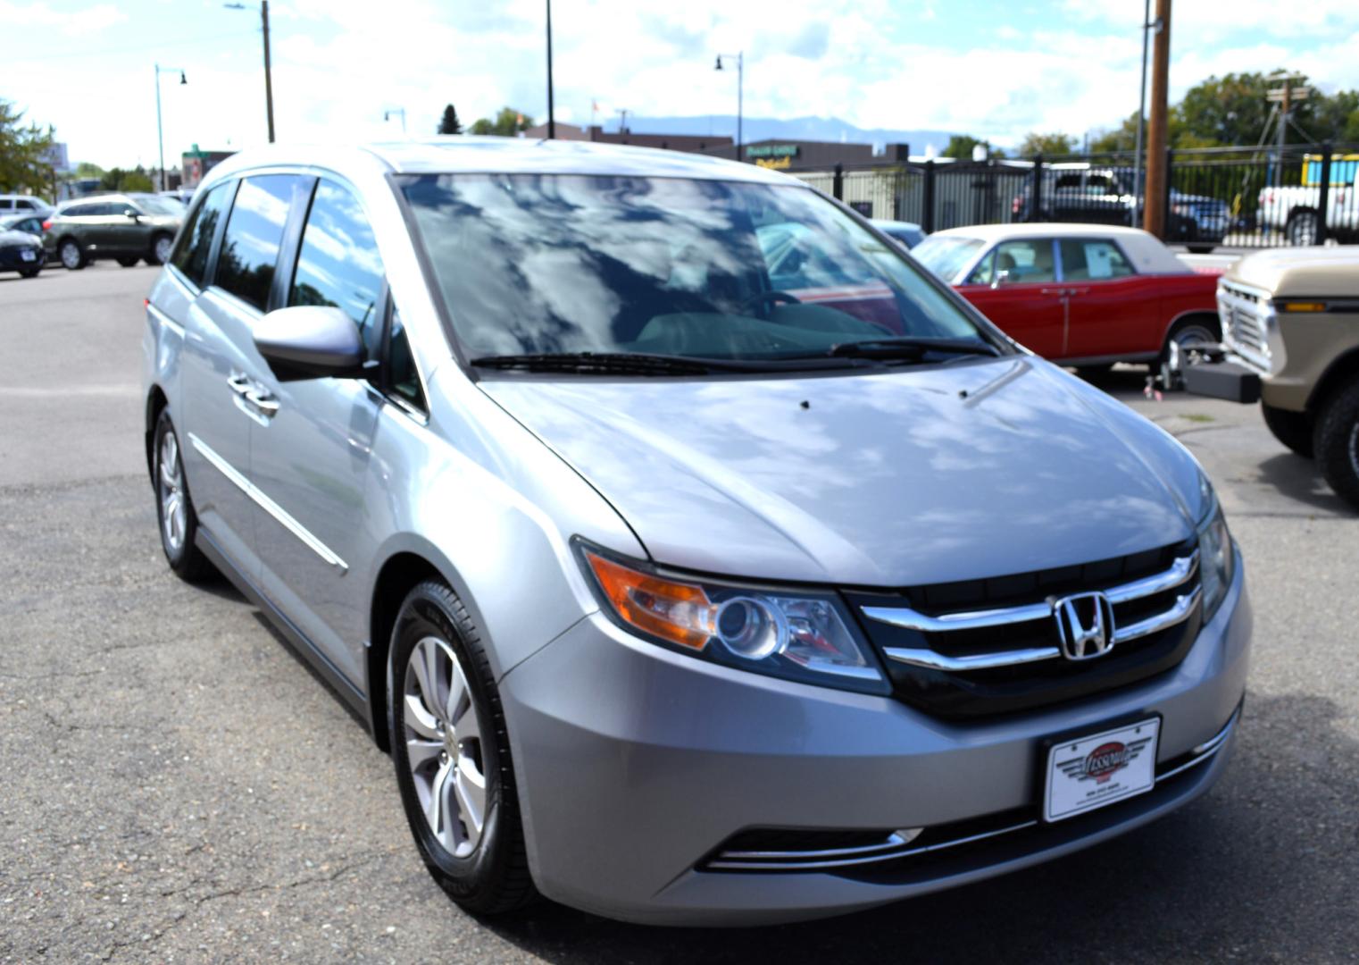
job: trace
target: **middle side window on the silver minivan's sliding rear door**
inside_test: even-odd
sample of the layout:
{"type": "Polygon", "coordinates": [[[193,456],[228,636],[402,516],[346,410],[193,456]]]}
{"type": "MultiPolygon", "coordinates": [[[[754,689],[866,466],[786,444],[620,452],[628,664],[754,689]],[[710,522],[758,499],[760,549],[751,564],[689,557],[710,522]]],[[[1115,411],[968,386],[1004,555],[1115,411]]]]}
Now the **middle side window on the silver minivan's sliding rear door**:
{"type": "Polygon", "coordinates": [[[261,311],[269,303],[296,182],[294,174],[262,174],[242,181],[222,238],[216,284],[261,311]]]}

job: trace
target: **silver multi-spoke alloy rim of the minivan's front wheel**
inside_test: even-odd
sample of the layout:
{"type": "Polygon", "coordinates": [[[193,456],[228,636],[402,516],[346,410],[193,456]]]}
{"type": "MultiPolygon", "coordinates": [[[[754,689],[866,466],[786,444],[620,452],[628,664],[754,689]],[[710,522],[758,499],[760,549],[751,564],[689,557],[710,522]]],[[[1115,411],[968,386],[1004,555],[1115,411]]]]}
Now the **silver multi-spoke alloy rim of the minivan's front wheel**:
{"type": "Polygon", "coordinates": [[[435,840],[455,858],[481,843],[487,775],[481,727],[462,663],[446,640],[421,637],[402,688],[406,761],[435,840]]]}

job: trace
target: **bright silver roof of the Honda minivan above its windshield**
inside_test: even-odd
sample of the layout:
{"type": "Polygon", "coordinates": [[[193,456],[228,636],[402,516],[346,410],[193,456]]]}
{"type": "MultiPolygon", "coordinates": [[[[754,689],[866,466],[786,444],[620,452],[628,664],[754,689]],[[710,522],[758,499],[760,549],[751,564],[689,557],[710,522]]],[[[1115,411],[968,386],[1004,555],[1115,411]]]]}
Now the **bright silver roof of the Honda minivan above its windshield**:
{"type": "Polygon", "coordinates": [[[270,144],[232,155],[212,173],[216,175],[219,171],[265,164],[347,167],[363,164],[364,158],[370,164],[374,159],[379,160],[395,174],[622,174],[771,185],[802,183],[754,164],[678,151],[573,140],[465,135],[345,147],[270,144]]]}

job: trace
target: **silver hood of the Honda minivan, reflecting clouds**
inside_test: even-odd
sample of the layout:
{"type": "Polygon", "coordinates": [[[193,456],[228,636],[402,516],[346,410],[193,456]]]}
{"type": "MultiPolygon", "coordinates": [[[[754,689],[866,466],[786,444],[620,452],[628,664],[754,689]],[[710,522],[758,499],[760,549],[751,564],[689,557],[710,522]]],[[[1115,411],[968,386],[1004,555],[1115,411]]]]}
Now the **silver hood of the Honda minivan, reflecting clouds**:
{"type": "Polygon", "coordinates": [[[480,385],[674,567],[900,587],[1087,563],[1193,529],[1188,451],[1029,356],[480,385]]]}

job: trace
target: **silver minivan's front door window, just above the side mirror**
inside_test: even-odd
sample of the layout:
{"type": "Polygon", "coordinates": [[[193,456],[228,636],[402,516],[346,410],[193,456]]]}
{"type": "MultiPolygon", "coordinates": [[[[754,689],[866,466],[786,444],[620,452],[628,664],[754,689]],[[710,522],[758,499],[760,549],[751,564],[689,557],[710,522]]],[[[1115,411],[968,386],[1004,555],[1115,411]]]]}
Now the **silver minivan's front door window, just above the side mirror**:
{"type": "Polygon", "coordinates": [[[382,258],[359,200],[330,182],[317,193],[302,232],[298,268],[288,304],[329,304],[342,309],[363,333],[368,357],[378,356],[381,334],[382,258]]]}

